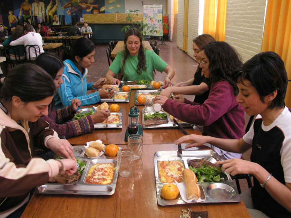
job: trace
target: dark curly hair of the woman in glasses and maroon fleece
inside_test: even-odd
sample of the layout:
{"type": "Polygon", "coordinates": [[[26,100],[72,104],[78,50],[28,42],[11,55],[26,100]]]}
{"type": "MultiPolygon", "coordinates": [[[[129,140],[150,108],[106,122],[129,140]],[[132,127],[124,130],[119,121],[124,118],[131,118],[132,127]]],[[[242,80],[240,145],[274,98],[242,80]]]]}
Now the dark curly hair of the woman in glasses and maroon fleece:
{"type": "Polygon", "coordinates": [[[228,81],[237,92],[237,82],[233,78],[235,69],[242,66],[242,61],[233,47],[226,42],[210,42],[202,50],[209,59],[211,82],[228,81]]]}

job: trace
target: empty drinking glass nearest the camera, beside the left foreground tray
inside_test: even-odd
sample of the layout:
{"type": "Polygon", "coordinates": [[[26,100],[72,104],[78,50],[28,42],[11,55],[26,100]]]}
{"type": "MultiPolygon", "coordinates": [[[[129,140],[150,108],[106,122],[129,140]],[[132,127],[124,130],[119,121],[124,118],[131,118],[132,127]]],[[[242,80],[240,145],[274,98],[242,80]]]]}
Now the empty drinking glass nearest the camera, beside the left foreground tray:
{"type": "Polygon", "coordinates": [[[133,151],[132,149],[120,149],[117,152],[117,169],[119,175],[122,177],[128,177],[132,175],[133,172],[133,151]]]}

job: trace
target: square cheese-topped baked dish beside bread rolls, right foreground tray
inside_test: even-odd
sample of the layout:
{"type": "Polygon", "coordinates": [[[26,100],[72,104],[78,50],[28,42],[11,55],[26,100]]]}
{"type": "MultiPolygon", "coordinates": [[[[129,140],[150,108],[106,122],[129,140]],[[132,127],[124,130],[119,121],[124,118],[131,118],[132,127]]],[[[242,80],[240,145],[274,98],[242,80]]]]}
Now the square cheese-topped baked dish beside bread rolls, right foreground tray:
{"type": "Polygon", "coordinates": [[[178,160],[162,160],[158,162],[159,178],[162,183],[182,182],[184,166],[178,160]]]}

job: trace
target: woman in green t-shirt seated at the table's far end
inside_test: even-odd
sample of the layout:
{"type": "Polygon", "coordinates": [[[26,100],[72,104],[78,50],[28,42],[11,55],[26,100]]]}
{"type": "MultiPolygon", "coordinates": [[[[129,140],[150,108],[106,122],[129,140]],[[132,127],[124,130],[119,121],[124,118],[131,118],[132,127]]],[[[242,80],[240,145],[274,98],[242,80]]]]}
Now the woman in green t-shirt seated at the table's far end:
{"type": "Polygon", "coordinates": [[[141,32],[136,28],[129,29],[124,36],[125,50],[120,51],[106,74],[107,80],[113,85],[119,85],[120,81],[114,78],[120,71],[123,81],[145,79],[154,80],[154,69],[166,72],[164,86],[171,86],[175,71],[167,65],[154,51],[143,49],[141,32]]]}

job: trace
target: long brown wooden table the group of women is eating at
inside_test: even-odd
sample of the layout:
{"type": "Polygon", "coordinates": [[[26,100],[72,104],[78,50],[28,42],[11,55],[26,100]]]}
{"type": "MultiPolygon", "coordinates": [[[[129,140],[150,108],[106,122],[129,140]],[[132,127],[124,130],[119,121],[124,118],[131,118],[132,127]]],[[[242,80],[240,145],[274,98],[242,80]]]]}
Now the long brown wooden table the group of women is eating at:
{"type": "MultiPolygon", "coordinates": [[[[124,142],[127,114],[134,105],[132,91],[129,103],[118,103],[122,109],[122,129],[99,129],[93,133],[69,139],[71,143],[84,143],[101,139],[104,144],[124,142]]],[[[110,105],[111,103],[109,103],[110,105]]],[[[138,106],[143,108],[143,106],[138,106]]],[[[141,121],[141,117],[140,117],[141,121]]],[[[197,133],[186,128],[188,133],[197,133]]],[[[175,206],[157,204],[153,157],[156,151],[177,150],[175,140],[183,136],[178,128],[145,129],[143,132],[143,154],[134,161],[134,174],[123,178],[118,176],[115,193],[111,196],[49,195],[34,194],[22,217],[180,217],[181,209],[207,211],[209,217],[250,217],[241,201],[239,203],[198,203],[175,206]]],[[[116,159],[116,157],[113,157],[116,159]]]]}

